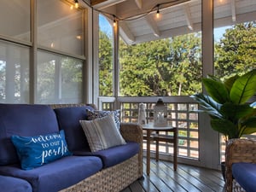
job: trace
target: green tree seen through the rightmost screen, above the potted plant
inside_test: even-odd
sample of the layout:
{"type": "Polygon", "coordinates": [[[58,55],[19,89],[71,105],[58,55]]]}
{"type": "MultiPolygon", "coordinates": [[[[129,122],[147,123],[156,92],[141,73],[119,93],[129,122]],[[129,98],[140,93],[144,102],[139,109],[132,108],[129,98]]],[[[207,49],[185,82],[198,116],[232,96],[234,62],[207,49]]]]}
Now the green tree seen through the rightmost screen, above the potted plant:
{"type": "Polygon", "coordinates": [[[215,75],[230,76],[256,67],[256,22],[237,24],[227,29],[215,44],[215,75]]]}

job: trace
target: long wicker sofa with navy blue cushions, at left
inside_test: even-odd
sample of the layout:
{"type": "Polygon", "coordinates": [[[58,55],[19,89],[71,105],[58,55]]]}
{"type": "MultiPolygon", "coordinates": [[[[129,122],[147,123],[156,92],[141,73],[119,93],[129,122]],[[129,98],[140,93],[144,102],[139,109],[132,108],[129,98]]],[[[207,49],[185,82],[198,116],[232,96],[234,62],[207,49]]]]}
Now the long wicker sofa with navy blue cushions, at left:
{"type": "MultiPolygon", "coordinates": [[[[92,153],[79,124],[79,120],[87,119],[87,108],[94,110],[84,104],[0,104],[0,188],[33,192],[119,191],[142,177],[141,128],[135,124],[121,124],[120,131],[126,144],[92,153]],[[38,136],[47,136],[46,140],[56,138],[55,134],[61,130],[65,133],[65,141],[61,140],[61,143],[67,143],[68,153],[61,144],[60,151],[50,149],[42,154],[44,165],[36,164],[31,168],[26,166],[25,160],[20,161],[22,154],[12,141],[15,137],[29,137],[37,143],[42,140],[38,136]],[[54,153],[62,156],[46,162],[54,153]]],[[[61,135],[57,136],[61,138],[61,135]]]]}

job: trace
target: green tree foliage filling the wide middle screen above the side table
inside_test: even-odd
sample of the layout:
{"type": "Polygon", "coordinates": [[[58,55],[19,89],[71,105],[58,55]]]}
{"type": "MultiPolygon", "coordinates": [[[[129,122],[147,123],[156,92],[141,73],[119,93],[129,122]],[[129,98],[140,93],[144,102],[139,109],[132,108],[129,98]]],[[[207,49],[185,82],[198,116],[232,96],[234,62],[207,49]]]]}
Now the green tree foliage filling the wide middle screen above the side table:
{"type": "Polygon", "coordinates": [[[201,34],[143,44],[120,41],[121,96],[189,95],[201,89],[201,34]]]}

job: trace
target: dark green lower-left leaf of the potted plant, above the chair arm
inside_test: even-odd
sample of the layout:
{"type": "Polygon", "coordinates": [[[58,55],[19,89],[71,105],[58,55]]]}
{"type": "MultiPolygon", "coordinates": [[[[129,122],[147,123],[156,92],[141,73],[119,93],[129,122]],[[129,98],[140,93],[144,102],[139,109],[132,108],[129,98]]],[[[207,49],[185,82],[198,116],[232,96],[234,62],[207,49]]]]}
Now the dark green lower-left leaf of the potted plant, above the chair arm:
{"type": "Polygon", "coordinates": [[[218,131],[224,136],[230,138],[238,138],[239,130],[236,125],[234,125],[230,120],[227,119],[212,119],[211,120],[212,129],[218,131]]]}

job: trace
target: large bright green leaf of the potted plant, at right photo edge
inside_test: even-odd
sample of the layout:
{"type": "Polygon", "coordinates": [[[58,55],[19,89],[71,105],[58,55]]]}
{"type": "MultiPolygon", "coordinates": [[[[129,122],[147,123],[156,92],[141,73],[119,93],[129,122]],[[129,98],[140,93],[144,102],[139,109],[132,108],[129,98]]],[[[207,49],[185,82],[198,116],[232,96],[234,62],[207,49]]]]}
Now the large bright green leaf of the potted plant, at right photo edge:
{"type": "Polygon", "coordinates": [[[237,104],[245,103],[256,93],[256,69],[236,79],[230,90],[230,100],[237,104]]]}

